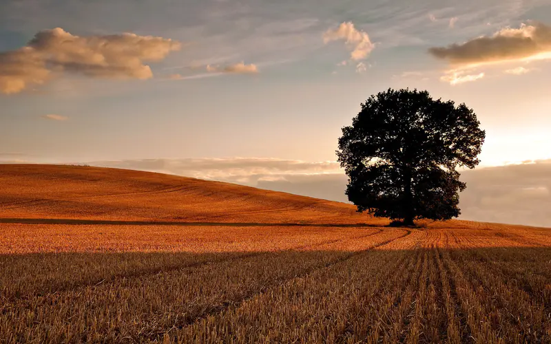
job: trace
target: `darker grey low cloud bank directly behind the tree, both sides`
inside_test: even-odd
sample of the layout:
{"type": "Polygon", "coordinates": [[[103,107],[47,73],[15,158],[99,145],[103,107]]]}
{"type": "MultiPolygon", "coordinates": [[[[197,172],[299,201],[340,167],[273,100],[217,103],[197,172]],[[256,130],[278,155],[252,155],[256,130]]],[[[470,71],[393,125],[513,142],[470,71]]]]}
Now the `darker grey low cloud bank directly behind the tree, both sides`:
{"type": "MultiPolygon", "coordinates": [[[[461,173],[459,219],[551,227],[551,160],[474,169],[461,173]]],[[[344,174],[286,175],[258,187],[347,202],[344,174]]]]}

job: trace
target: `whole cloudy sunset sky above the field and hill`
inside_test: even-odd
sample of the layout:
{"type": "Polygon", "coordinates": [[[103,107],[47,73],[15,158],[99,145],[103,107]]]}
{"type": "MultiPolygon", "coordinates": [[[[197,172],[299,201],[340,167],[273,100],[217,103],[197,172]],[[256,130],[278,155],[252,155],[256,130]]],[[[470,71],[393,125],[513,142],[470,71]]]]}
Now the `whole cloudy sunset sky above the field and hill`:
{"type": "Polygon", "coordinates": [[[486,130],[464,218],[526,193],[510,222],[551,226],[550,59],[551,0],[3,0],[0,161],[342,200],[340,129],[371,94],[426,89],[486,130]]]}

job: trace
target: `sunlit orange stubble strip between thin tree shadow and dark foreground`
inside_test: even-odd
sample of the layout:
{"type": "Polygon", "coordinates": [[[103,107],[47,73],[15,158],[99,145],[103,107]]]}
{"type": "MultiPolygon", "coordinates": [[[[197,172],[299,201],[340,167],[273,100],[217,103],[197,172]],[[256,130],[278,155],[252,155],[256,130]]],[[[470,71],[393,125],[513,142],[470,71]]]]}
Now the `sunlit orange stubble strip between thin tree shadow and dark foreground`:
{"type": "MultiPolygon", "coordinates": [[[[253,252],[316,246],[377,233],[371,227],[95,226],[0,224],[0,254],[253,252]]],[[[348,246],[345,247],[347,250],[348,246]]]]}

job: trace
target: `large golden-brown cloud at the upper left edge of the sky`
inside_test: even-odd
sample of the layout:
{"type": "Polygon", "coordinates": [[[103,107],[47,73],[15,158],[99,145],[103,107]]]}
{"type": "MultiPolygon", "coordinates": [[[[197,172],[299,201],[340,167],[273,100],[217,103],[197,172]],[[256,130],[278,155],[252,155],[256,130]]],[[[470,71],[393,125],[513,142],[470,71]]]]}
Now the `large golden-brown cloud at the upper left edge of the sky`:
{"type": "Polygon", "coordinates": [[[0,52],[0,92],[18,93],[64,72],[92,78],[152,78],[145,63],[161,61],[179,49],[180,43],[162,37],[75,36],[61,28],[43,30],[25,47],[0,52]]]}

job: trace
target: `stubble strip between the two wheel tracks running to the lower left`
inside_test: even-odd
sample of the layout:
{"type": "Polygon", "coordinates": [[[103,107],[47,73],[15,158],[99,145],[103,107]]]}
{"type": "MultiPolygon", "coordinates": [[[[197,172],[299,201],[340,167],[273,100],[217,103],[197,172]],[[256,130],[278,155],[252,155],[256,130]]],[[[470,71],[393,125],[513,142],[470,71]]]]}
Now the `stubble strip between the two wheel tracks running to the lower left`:
{"type": "MultiPolygon", "coordinates": [[[[363,241],[364,249],[368,249],[401,235],[402,230],[375,231],[345,240],[363,241]]],[[[12,293],[1,308],[0,332],[9,341],[154,337],[173,322],[185,325],[227,304],[357,254],[342,250],[265,252],[68,290],[51,292],[50,288],[43,296],[17,297],[12,293]]]]}

